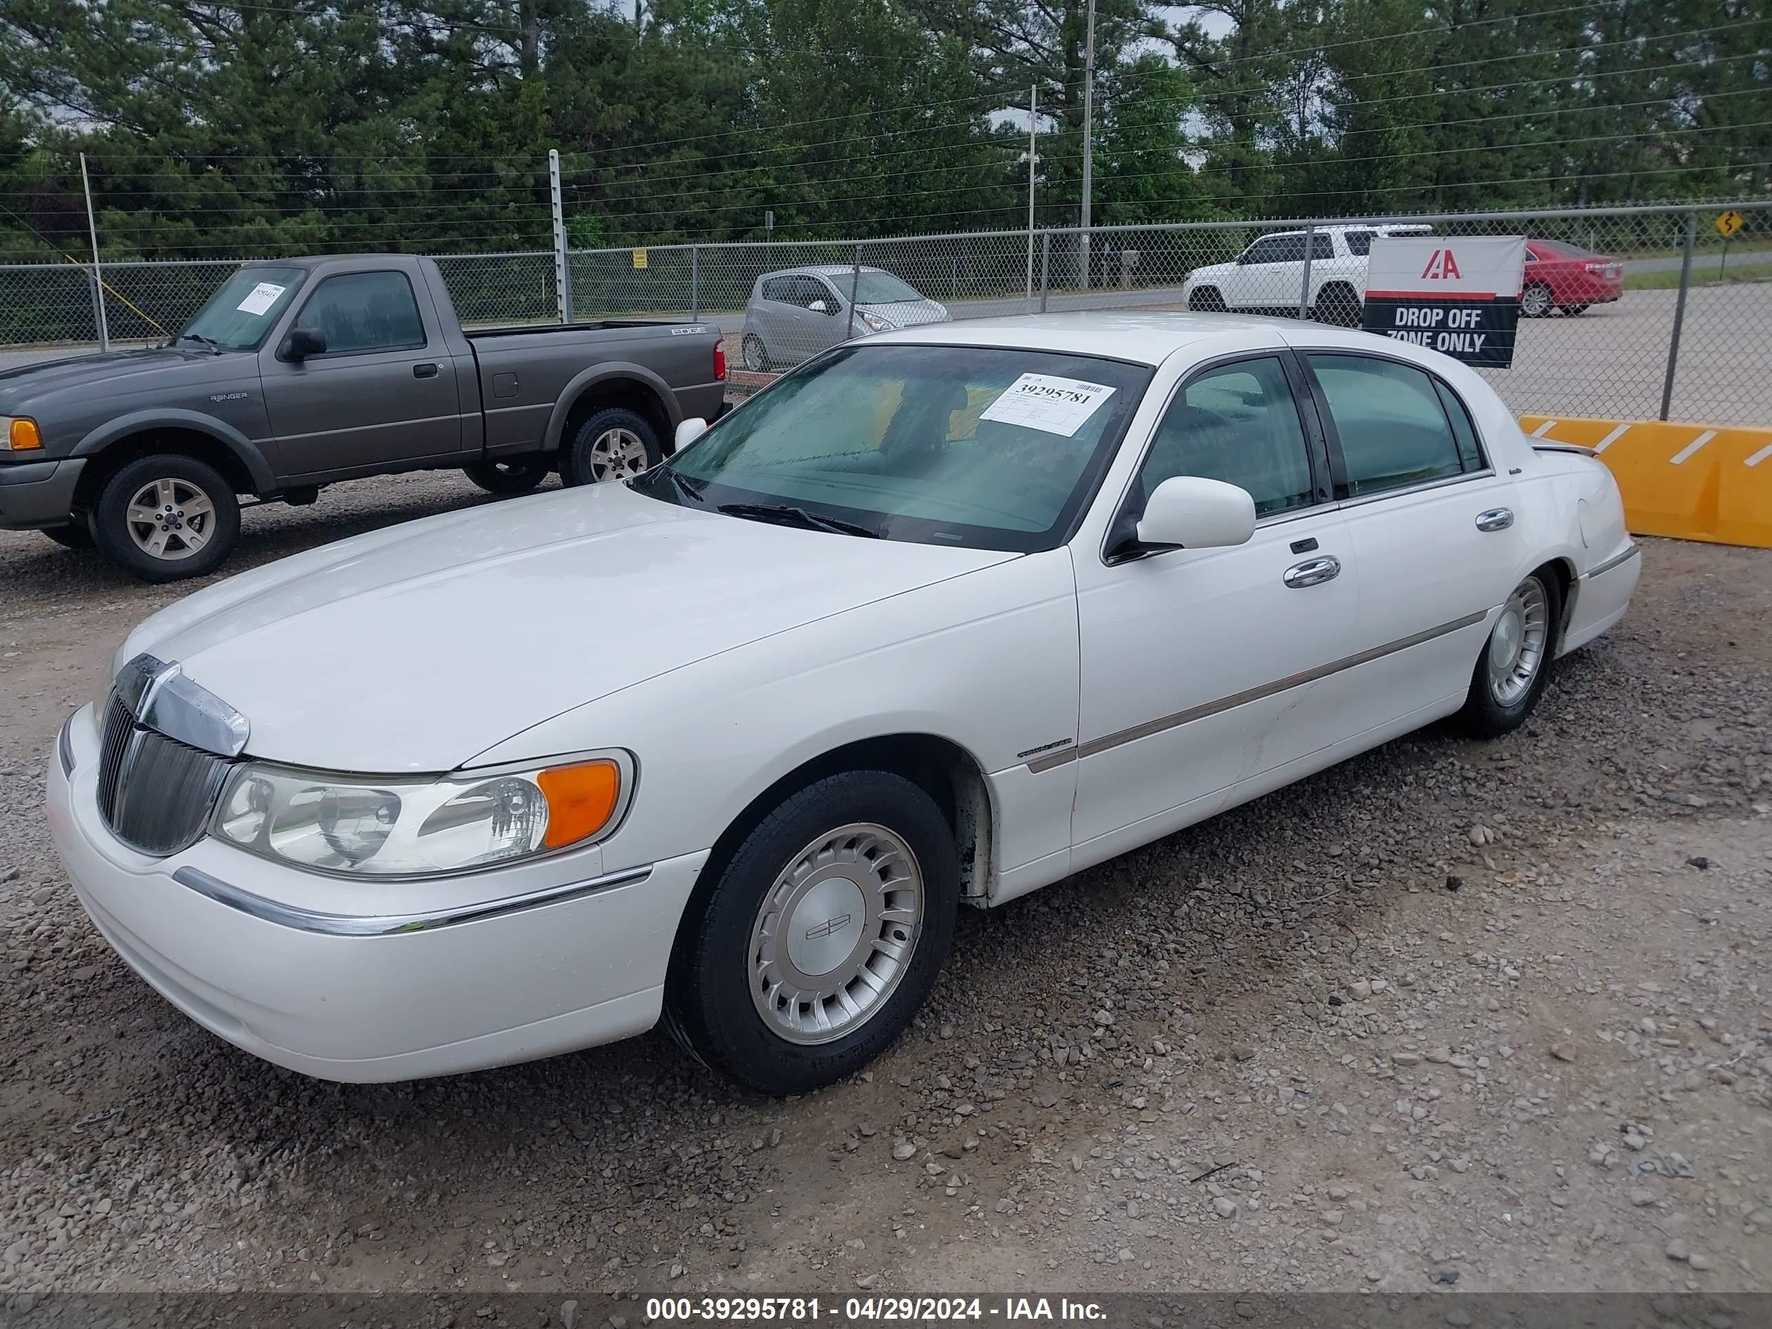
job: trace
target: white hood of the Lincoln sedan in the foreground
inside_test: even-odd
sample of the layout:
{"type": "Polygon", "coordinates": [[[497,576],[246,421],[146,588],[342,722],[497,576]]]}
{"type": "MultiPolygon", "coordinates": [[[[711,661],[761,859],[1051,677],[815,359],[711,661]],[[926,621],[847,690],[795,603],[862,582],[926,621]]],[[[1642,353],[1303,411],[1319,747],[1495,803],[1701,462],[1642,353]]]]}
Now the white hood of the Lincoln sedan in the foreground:
{"type": "MultiPolygon", "coordinates": [[[[408,523],[200,590],[177,661],[292,766],[448,771],[645,679],[1014,558],[769,526],[606,484],[408,523]]],[[[553,753],[535,753],[549,757],[553,753]]]]}

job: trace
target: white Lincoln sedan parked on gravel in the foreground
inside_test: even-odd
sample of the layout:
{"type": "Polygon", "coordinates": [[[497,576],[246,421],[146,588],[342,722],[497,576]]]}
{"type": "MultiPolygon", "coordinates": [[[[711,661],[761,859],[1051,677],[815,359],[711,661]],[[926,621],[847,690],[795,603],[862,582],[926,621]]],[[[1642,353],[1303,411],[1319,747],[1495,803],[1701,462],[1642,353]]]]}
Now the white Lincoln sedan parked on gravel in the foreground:
{"type": "Polygon", "coordinates": [[[803,1092],[907,1026],[962,904],[1504,734],[1641,567],[1595,457],[1304,323],[888,331],[703,429],[136,627],[48,769],[117,953],[326,1079],[663,1019],[803,1092]]]}

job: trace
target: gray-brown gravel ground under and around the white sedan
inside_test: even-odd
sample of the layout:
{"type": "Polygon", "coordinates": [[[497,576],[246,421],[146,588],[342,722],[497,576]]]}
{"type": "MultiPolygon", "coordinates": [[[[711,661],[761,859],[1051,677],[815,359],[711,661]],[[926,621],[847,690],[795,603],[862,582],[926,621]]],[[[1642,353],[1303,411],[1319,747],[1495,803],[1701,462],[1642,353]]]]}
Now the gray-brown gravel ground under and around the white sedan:
{"type": "MultiPolygon", "coordinates": [[[[253,510],[230,571],[471,501],[253,510]]],[[[399,1086],[204,1033],[99,941],[41,813],[62,716],[179,592],[12,533],[0,587],[14,1308],[1772,1285],[1772,553],[1650,542],[1632,615],[1506,741],[1393,742],[966,911],[918,1028],[787,1102],[656,1033],[399,1086]]]]}

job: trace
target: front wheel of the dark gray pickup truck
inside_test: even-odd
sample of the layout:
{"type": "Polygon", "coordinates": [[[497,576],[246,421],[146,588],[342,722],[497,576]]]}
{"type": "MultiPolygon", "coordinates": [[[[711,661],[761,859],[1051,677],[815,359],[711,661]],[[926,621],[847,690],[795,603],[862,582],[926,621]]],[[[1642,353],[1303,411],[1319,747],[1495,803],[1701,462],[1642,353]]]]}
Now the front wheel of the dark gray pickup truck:
{"type": "Polygon", "coordinates": [[[175,452],[128,462],[92,507],[99,553],[142,581],[213,572],[237,539],[234,486],[214,466],[175,452]]]}

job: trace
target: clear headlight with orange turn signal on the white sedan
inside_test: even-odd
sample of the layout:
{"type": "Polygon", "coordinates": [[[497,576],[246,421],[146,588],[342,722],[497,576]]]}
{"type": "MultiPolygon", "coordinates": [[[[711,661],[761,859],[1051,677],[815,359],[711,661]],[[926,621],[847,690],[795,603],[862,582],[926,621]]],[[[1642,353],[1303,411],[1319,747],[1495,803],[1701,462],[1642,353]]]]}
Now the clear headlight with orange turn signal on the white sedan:
{"type": "Polygon", "coordinates": [[[594,843],[631,792],[626,753],[441,780],[248,764],[229,778],[209,831],[319,872],[427,877],[594,843]]]}

